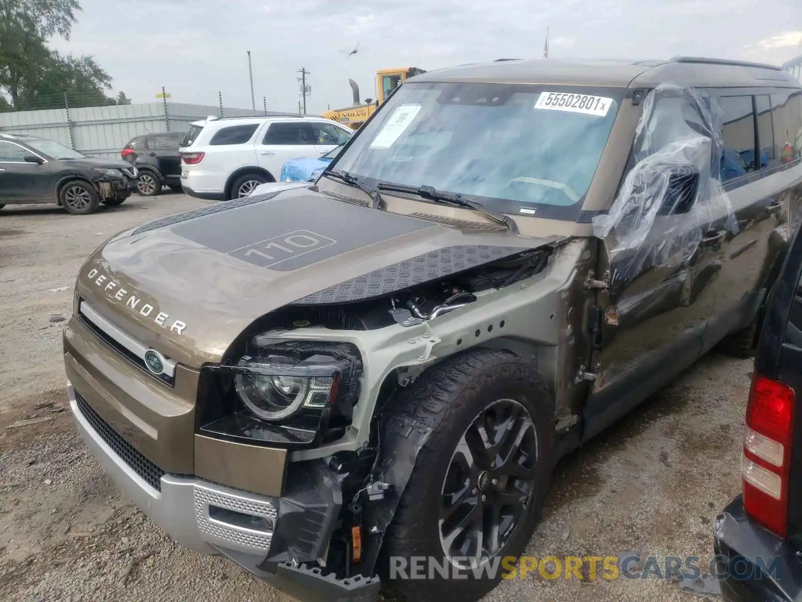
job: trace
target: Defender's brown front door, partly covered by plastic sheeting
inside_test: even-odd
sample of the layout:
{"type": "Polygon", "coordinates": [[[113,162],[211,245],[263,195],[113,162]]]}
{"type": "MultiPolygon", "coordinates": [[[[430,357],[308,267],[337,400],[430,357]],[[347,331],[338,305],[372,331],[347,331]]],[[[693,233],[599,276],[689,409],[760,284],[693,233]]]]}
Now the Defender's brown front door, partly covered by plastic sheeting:
{"type": "MultiPolygon", "coordinates": [[[[658,96],[643,130],[649,132],[649,144],[661,128],[667,144],[681,138],[694,119],[701,119],[698,112],[689,117],[689,107],[678,106],[687,102],[658,96]]],[[[636,140],[635,148],[641,143],[636,140]]],[[[601,336],[591,362],[596,380],[585,406],[586,437],[606,428],[701,356],[715,303],[714,283],[723,265],[726,230],[713,218],[702,217],[711,212],[695,210],[695,203],[702,202],[701,191],[710,185],[709,149],[707,165],[699,161],[702,169],[663,166],[654,160],[663,157],[659,148],[640,153],[646,158],[637,165],[630,161],[633,180],[627,177],[616,203],[626,189],[630,208],[658,203],[659,209],[653,221],[646,222],[650,226],[644,237],[630,236],[627,230],[638,230],[642,223],[628,224],[622,218],[600,245],[597,277],[608,288],[597,298],[601,336]],[[627,189],[628,182],[637,182],[635,170],[643,176],[642,187],[627,189]]]]}

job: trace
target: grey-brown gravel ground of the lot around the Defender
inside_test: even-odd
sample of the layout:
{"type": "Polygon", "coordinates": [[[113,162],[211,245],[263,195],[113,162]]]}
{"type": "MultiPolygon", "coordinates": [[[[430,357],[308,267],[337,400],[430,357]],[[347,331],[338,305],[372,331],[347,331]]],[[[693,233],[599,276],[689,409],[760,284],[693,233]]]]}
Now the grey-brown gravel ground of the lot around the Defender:
{"type": "MultiPolygon", "coordinates": [[[[172,543],[120,497],[65,409],[63,319],[84,258],[138,222],[205,205],[132,197],[91,216],[0,212],[0,600],[290,602],[222,559],[172,543]],[[23,419],[42,419],[14,428],[23,419]],[[9,428],[12,427],[12,428],[9,428]]],[[[711,556],[738,492],[751,362],[710,355],[557,467],[529,555],[711,556]]],[[[502,600],[698,600],[666,580],[504,581],[502,600]]]]}

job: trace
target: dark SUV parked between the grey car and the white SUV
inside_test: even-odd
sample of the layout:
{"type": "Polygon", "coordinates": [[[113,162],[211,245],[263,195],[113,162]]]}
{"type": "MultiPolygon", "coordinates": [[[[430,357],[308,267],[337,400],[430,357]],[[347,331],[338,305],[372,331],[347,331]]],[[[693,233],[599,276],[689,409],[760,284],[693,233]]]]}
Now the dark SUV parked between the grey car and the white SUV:
{"type": "Polygon", "coordinates": [[[135,136],[128,141],[120,156],[136,165],[140,176],[137,191],[144,197],[155,197],[162,187],[181,189],[181,157],[178,154],[181,140],[187,132],[164,132],[135,136]]]}

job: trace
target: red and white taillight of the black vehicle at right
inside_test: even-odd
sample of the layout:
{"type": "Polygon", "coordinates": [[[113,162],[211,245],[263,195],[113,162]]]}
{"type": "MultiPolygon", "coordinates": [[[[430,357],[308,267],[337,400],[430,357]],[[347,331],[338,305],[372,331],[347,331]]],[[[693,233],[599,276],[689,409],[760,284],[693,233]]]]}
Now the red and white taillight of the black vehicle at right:
{"type": "Polygon", "coordinates": [[[751,519],[780,537],[788,534],[795,397],[788,385],[755,372],[743,433],[743,507],[751,519]]]}

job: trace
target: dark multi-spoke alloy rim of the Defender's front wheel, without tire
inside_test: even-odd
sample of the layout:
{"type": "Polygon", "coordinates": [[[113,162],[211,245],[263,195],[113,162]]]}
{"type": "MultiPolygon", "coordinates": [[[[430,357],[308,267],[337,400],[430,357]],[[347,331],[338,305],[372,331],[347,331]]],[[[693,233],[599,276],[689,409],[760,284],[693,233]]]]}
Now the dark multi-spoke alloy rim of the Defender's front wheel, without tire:
{"type": "Polygon", "coordinates": [[[497,555],[525,518],[537,488],[537,430],[512,399],[488,405],[465,430],[443,484],[439,535],[456,567],[497,555]]]}

